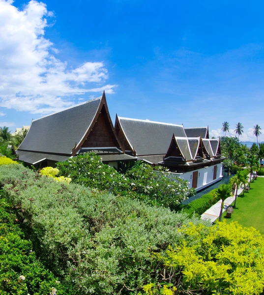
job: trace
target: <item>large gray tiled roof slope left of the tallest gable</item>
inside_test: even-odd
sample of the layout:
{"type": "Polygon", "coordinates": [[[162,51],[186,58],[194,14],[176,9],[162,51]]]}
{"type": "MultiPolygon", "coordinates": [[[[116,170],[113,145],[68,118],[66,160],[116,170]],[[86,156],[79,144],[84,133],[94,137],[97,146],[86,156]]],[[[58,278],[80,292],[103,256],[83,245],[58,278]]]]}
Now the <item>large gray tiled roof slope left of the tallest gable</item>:
{"type": "MultiPolygon", "coordinates": [[[[19,150],[71,154],[90,126],[101,97],[32,121],[19,150]]],[[[27,161],[28,162],[28,161],[27,161]]]]}

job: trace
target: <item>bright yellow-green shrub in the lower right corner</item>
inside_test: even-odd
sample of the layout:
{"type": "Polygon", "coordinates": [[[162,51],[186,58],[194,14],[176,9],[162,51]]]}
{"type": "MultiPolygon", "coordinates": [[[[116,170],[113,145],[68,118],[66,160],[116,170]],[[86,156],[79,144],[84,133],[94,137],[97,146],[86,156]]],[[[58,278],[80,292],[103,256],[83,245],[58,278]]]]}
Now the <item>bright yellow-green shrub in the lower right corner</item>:
{"type": "Polygon", "coordinates": [[[182,234],[178,244],[153,254],[163,270],[160,283],[144,287],[146,294],[262,294],[264,236],[257,230],[224,222],[178,231],[182,234]]]}

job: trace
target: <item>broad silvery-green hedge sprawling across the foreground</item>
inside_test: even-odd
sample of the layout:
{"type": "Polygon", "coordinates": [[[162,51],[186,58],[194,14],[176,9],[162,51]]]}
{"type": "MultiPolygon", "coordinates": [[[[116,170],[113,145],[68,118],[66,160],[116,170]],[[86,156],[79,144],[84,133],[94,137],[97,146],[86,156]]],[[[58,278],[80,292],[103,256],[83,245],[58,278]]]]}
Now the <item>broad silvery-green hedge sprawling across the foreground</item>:
{"type": "Polygon", "coordinates": [[[124,196],[63,184],[21,165],[0,167],[6,198],[43,263],[78,295],[139,294],[156,281],[151,253],[177,244],[177,231],[192,221],[187,214],[147,206],[124,196]]]}

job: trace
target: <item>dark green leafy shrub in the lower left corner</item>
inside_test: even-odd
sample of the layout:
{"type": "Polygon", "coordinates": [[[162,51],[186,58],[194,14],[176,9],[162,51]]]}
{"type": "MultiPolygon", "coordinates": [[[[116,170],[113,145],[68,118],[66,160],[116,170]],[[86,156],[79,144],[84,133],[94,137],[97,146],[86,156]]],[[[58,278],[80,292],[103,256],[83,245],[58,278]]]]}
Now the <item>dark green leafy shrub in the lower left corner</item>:
{"type": "Polygon", "coordinates": [[[0,191],[0,294],[74,294],[44,268],[19,228],[13,208],[0,191]]]}

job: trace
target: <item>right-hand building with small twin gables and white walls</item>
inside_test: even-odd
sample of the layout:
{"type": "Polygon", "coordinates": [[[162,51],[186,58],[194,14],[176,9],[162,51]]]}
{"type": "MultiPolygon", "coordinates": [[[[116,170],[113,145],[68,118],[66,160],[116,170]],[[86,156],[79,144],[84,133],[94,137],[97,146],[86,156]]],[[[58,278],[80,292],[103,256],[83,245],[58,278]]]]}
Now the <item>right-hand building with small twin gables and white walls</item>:
{"type": "Polygon", "coordinates": [[[209,139],[208,127],[116,117],[117,138],[125,153],[170,169],[171,177],[188,180],[200,190],[222,178],[220,142],[209,139]]]}

